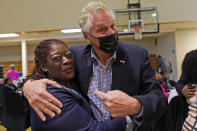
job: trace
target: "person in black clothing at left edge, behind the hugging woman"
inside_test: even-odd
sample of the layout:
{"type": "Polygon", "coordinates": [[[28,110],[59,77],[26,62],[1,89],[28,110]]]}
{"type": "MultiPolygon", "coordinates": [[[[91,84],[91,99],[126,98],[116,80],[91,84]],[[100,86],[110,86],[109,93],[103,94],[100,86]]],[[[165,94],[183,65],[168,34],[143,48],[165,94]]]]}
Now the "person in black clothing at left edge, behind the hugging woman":
{"type": "Polygon", "coordinates": [[[2,125],[7,131],[24,131],[28,128],[28,106],[24,101],[22,93],[18,93],[18,88],[13,84],[12,79],[6,78],[1,89],[4,99],[2,125]]]}

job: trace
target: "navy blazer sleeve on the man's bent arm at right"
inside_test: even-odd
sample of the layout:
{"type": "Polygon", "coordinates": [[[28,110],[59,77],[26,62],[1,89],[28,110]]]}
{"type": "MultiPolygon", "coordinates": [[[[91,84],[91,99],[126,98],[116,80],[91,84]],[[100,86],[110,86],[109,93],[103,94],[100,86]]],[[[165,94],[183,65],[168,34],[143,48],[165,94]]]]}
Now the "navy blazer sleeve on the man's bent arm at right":
{"type": "Polygon", "coordinates": [[[141,89],[142,93],[134,97],[143,106],[143,121],[150,122],[158,119],[167,110],[168,102],[155,79],[155,71],[151,67],[151,60],[147,50],[143,51],[141,89]]]}

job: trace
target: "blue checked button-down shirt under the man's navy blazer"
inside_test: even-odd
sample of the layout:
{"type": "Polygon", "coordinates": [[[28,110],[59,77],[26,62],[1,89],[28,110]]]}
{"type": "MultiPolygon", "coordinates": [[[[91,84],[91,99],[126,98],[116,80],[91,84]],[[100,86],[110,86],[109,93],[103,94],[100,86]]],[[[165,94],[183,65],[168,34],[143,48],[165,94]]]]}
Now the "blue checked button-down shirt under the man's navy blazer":
{"type": "Polygon", "coordinates": [[[105,110],[102,101],[94,95],[94,91],[102,91],[107,93],[111,91],[112,84],[112,63],[116,59],[116,52],[108,60],[107,65],[104,67],[97,59],[93,50],[91,50],[91,58],[93,61],[93,75],[90,80],[88,97],[90,99],[90,106],[98,121],[109,120],[110,114],[105,110]]]}

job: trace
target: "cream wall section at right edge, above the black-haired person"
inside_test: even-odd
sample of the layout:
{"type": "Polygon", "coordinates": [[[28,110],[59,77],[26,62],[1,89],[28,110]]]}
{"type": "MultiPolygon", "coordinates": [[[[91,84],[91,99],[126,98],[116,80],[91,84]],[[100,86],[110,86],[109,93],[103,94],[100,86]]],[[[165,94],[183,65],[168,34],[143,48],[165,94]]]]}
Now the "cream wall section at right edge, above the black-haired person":
{"type": "Polygon", "coordinates": [[[181,64],[187,52],[197,49],[197,29],[177,30],[175,32],[177,72],[181,74],[181,64]]]}

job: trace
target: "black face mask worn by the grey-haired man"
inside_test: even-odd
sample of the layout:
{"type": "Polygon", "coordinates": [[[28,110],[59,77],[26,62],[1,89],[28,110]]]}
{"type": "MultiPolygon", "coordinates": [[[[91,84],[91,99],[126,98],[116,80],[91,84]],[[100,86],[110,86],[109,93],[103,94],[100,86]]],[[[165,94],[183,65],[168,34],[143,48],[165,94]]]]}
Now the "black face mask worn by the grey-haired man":
{"type": "MultiPolygon", "coordinates": [[[[94,37],[93,35],[91,36],[94,37]]],[[[99,48],[106,53],[113,53],[118,46],[118,32],[108,36],[99,37],[96,39],[99,40],[99,44],[100,44],[99,48]]]]}

